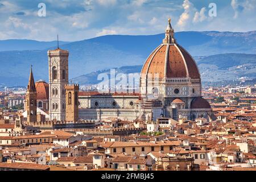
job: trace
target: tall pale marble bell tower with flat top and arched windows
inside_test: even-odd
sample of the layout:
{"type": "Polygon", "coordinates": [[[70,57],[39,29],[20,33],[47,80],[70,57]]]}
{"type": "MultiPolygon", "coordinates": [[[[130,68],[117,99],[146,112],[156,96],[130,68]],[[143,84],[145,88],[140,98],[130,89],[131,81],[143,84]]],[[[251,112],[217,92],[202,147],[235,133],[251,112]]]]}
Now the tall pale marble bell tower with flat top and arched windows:
{"type": "Polygon", "coordinates": [[[65,85],[68,84],[69,52],[58,47],[48,51],[49,118],[65,121],[65,85]]]}

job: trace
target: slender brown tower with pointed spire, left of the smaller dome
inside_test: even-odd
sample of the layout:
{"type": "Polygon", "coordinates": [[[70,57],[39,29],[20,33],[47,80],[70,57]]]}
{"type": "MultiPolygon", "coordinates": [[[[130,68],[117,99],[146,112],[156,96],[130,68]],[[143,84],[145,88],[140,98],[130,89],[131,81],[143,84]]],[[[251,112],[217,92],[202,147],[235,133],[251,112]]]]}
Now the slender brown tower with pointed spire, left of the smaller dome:
{"type": "Polygon", "coordinates": [[[26,93],[26,110],[27,110],[27,123],[31,125],[36,122],[37,106],[36,106],[36,87],[32,67],[30,68],[30,79],[28,80],[27,93],[26,93]]]}

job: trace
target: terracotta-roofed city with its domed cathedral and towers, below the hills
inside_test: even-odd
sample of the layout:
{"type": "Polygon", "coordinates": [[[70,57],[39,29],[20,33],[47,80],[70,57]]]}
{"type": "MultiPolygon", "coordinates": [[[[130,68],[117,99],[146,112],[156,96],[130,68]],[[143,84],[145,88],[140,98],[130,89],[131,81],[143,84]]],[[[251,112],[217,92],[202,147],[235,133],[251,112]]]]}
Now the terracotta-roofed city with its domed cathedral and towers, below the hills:
{"type": "Polygon", "coordinates": [[[256,171],[256,85],[204,88],[171,19],[139,92],[81,91],[47,55],[49,83],[0,93],[0,171],[256,171]]]}

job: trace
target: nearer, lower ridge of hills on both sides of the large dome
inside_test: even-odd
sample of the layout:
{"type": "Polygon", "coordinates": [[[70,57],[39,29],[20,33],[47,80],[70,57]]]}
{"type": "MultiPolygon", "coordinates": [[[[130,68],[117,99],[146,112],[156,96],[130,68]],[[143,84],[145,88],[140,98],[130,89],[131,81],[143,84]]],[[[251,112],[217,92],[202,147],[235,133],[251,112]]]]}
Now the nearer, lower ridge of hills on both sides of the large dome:
{"type": "MultiPolygon", "coordinates": [[[[226,53],[213,56],[195,57],[200,69],[201,79],[205,85],[222,85],[230,82],[239,82],[241,77],[256,78],[256,55],[226,53]]],[[[118,73],[140,73],[143,65],[115,68],[118,73]]],[[[97,80],[98,75],[106,73],[110,69],[92,72],[72,79],[72,82],[81,85],[94,85],[101,82],[97,80]]],[[[109,76],[110,78],[110,76],[109,76]]],[[[139,83],[137,83],[138,86],[139,83]]]]}

